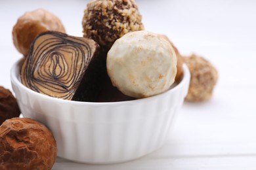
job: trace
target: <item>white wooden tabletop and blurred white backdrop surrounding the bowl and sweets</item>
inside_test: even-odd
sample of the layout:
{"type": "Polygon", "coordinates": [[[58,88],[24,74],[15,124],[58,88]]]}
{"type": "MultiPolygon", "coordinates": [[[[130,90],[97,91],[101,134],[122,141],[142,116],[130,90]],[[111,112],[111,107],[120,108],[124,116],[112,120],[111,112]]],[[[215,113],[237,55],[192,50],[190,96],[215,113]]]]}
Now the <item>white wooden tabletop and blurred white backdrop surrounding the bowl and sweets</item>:
{"type": "MultiPolygon", "coordinates": [[[[22,56],[12,27],[27,10],[50,10],[67,33],[82,36],[87,1],[0,1],[0,85],[22,56]]],[[[209,59],[219,71],[212,99],[184,103],[169,141],[139,160],[88,165],[58,158],[53,169],[256,169],[256,1],[137,0],[147,30],[168,35],[180,52],[209,59]]]]}

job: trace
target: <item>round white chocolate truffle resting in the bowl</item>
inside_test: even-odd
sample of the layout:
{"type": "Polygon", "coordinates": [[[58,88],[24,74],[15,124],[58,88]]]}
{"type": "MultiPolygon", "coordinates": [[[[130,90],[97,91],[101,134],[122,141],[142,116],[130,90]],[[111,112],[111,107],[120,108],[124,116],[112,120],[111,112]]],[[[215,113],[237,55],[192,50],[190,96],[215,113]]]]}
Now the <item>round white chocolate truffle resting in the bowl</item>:
{"type": "Polygon", "coordinates": [[[177,57],[160,35],[134,31],[114,42],[106,66],[112,84],[122,93],[144,98],[170,88],[177,74],[177,57]]]}

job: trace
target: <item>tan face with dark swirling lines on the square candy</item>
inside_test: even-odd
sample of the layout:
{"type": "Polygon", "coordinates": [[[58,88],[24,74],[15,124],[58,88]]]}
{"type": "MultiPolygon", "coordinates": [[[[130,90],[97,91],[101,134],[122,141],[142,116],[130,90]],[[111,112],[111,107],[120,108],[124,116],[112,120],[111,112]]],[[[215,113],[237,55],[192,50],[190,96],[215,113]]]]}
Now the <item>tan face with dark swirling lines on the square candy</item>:
{"type": "Polygon", "coordinates": [[[41,33],[22,65],[22,84],[35,92],[72,100],[92,58],[91,46],[83,38],[55,31],[41,33]]]}

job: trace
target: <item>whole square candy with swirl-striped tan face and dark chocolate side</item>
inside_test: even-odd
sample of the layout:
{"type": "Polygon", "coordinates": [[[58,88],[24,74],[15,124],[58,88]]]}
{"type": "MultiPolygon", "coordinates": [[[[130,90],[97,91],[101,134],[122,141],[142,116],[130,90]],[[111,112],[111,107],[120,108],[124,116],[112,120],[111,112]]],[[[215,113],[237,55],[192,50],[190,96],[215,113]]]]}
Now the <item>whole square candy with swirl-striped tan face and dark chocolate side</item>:
{"type": "Polygon", "coordinates": [[[92,39],[47,31],[32,43],[21,69],[22,84],[51,97],[95,101],[105,61],[92,39]]]}

